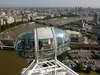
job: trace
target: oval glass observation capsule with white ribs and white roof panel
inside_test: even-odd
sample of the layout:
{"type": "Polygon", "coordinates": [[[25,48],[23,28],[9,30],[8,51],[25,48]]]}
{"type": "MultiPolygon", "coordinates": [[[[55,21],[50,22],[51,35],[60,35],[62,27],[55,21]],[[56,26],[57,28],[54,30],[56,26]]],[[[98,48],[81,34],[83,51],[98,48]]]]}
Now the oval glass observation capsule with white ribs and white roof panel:
{"type": "Polygon", "coordinates": [[[34,59],[37,53],[41,59],[50,59],[54,57],[55,47],[56,55],[60,55],[68,49],[69,42],[69,36],[64,30],[41,27],[20,34],[14,47],[22,58],[34,59]]]}

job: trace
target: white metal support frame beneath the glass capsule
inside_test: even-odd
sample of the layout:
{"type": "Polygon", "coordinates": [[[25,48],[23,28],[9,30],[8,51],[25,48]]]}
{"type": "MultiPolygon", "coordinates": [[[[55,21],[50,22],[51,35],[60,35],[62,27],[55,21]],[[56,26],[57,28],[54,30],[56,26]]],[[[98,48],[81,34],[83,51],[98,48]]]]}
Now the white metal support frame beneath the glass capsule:
{"type": "Polygon", "coordinates": [[[35,63],[35,60],[26,68],[21,75],[78,75],[72,69],[59,60],[45,60],[35,63]],[[43,67],[46,64],[46,67],[43,67]]]}

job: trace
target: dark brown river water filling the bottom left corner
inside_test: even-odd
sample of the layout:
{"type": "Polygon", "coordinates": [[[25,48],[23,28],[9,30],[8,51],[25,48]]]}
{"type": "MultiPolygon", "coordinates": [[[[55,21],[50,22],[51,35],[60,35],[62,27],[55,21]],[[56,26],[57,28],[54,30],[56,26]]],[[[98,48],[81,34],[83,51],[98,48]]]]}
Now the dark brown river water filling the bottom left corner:
{"type": "Polygon", "coordinates": [[[27,67],[27,60],[16,55],[15,51],[0,51],[0,75],[18,75],[27,67]]]}

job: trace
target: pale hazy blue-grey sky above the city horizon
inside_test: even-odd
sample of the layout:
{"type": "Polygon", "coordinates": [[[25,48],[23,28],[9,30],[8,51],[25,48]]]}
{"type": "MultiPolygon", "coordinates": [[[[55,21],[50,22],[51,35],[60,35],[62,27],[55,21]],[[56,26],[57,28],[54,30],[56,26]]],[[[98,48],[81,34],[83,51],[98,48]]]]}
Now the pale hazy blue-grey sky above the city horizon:
{"type": "Polygon", "coordinates": [[[0,0],[0,7],[95,7],[100,0],[0,0]]]}

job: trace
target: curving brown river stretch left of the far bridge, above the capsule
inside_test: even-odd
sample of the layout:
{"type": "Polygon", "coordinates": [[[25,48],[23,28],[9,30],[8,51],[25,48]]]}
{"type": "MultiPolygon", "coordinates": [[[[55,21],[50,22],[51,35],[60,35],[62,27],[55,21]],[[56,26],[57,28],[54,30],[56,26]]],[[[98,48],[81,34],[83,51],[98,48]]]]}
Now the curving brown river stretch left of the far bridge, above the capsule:
{"type": "Polygon", "coordinates": [[[26,23],[26,24],[21,24],[16,27],[13,27],[11,29],[8,29],[8,30],[2,32],[1,34],[5,33],[3,35],[3,38],[11,38],[13,40],[16,40],[18,35],[20,35],[21,33],[28,31],[28,30],[32,30],[36,27],[43,27],[43,26],[44,25],[40,25],[37,23],[33,23],[33,24],[26,23]]]}

